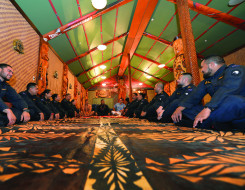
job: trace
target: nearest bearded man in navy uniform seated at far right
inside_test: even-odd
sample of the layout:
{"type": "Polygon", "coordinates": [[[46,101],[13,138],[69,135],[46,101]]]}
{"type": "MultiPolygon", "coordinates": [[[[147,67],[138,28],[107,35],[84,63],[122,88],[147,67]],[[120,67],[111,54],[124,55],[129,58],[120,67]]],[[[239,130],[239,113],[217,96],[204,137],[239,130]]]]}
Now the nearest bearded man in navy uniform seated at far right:
{"type": "MultiPolygon", "coordinates": [[[[245,124],[245,67],[226,66],[219,56],[209,56],[201,63],[204,80],[172,115],[174,122],[183,116],[193,121],[193,127],[216,128],[224,124],[245,124]],[[212,97],[202,109],[193,109],[206,95],[212,97]]],[[[232,125],[229,125],[232,126],[232,125]]]]}

